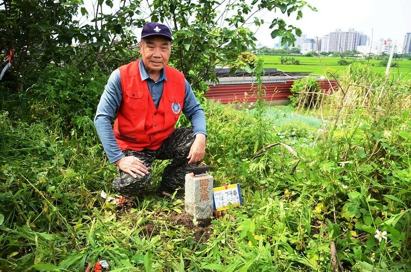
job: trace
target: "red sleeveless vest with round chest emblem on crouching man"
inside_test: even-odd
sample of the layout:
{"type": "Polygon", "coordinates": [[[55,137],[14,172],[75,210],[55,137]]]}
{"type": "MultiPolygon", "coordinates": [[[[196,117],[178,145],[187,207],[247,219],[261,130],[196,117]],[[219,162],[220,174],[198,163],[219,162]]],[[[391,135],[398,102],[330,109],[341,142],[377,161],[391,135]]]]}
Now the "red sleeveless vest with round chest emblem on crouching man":
{"type": "Polygon", "coordinates": [[[183,108],[184,75],[170,66],[164,69],[167,81],[156,109],[147,82],[141,80],[139,61],[119,68],[123,97],[113,129],[121,150],[157,149],[174,131],[183,108]]]}

